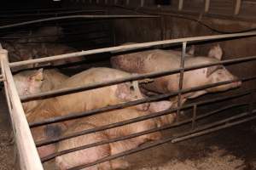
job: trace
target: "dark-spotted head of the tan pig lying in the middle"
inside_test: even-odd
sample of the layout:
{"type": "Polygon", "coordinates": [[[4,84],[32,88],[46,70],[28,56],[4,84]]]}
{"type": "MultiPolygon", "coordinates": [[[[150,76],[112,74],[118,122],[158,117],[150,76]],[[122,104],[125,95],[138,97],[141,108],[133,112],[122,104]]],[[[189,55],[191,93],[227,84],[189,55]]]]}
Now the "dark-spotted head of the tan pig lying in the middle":
{"type": "MultiPolygon", "coordinates": [[[[143,99],[144,96],[141,93],[138,82],[125,82],[121,84],[117,84],[117,90],[115,95],[121,99],[122,101],[133,101],[137,99],[143,99]]],[[[140,111],[147,111],[149,104],[145,103],[142,105],[137,105],[137,109],[140,111]]]]}

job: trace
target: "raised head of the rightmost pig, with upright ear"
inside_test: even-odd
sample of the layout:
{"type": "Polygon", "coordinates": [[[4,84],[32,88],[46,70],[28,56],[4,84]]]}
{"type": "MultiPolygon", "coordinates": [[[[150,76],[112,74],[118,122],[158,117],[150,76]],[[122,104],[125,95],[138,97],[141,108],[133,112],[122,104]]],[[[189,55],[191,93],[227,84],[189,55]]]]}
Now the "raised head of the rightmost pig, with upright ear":
{"type": "MultiPolygon", "coordinates": [[[[223,55],[222,48],[219,45],[211,48],[209,51],[208,57],[216,59],[216,61],[220,61],[223,55]]],[[[232,80],[238,80],[238,78],[230,73],[223,65],[214,65],[207,68],[207,80],[210,83],[217,82],[226,82],[232,80]]],[[[237,88],[241,86],[241,82],[231,82],[230,84],[224,84],[221,86],[207,88],[207,92],[218,92],[225,91],[230,88],[237,88]]]]}

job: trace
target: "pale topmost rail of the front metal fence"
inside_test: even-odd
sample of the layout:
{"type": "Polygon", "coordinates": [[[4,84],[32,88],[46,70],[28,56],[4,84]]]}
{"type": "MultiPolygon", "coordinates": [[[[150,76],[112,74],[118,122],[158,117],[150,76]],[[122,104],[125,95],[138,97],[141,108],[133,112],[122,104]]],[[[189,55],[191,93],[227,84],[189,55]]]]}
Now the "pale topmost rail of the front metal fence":
{"type": "Polygon", "coordinates": [[[29,59],[26,61],[11,63],[10,67],[49,62],[57,59],[67,59],[67,58],[79,57],[79,56],[84,56],[89,54],[101,54],[101,53],[114,52],[119,50],[128,51],[132,49],[150,48],[150,47],[154,47],[157,45],[164,45],[164,44],[172,44],[172,43],[180,43],[180,42],[188,42],[188,43],[202,42],[202,41],[218,40],[218,39],[232,38],[232,37],[251,37],[251,36],[256,36],[256,31],[250,31],[246,33],[236,33],[236,34],[224,34],[224,35],[217,35],[217,36],[187,37],[187,38],[163,40],[163,41],[157,41],[157,42],[143,42],[143,43],[136,43],[136,44],[130,44],[130,45],[121,45],[121,46],[111,47],[111,48],[92,49],[92,50],[82,51],[78,53],[55,55],[55,56],[45,57],[44,59],[29,59]]]}

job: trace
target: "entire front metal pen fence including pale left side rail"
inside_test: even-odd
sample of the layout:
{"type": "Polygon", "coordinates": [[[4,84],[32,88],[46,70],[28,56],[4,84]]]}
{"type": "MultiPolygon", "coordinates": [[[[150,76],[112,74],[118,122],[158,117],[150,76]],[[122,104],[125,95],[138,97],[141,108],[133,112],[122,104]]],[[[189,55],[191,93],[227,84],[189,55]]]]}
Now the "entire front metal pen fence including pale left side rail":
{"type": "MultiPolygon", "coordinates": [[[[202,127],[195,127],[195,123],[197,120],[205,118],[207,116],[211,116],[213,114],[217,114],[220,111],[224,111],[233,107],[243,107],[243,106],[247,106],[248,108],[250,107],[250,105],[253,105],[253,103],[241,103],[241,104],[236,104],[236,105],[228,105],[225,106],[223,108],[220,108],[218,110],[215,111],[211,111],[205,115],[197,115],[197,107],[200,105],[207,105],[211,102],[219,102],[219,101],[223,101],[225,99],[236,99],[236,98],[240,98],[243,96],[247,96],[249,94],[254,94],[256,89],[250,89],[250,90],[246,90],[243,93],[239,93],[239,94],[232,94],[230,96],[225,96],[225,97],[219,97],[216,99],[208,99],[205,100],[203,102],[196,102],[196,103],[192,103],[189,105],[182,105],[181,104],[181,95],[185,94],[185,93],[189,93],[192,91],[197,91],[197,90],[201,90],[201,89],[206,89],[206,88],[212,88],[212,87],[216,87],[216,86],[220,86],[220,85],[224,85],[224,84],[228,84],[230,82],[236,82],[239,80],[232,80],[232,81],[227,81],[227,82],[218,82],[218,83],[214,83],[214,84],[207,84],[205,86],[201,86],[201,87],[195,87],[195,88],[186,88],[183,89],[182,88],[182,83],[183,83],[183,72],[184,71],[190,71],[190,70],[195,70],[195,69],[199,69],[199,68],[204,68],[207,66],[212,66],[212,65],[222,65],[222,64],[234,64],[234,63],[240,63],[240,62],[247,62],[247,61],[251,61],[251,60],[256,60],[256,56],[252,56],[252,57],[244,57],[244,58],[239,58],[239,59],[229,59],[229,60],[224,60],[224,61],[219,61],[217,63],[213,63],[213,64],[207,64],[207,65],[195,65],[195,66],[191,66],[191,67],[184,67],[183,63],[184,63],[184,55],[185,55],[185,51],[186,51],[186,44],[189,42],[203,42],[203,41],[209,41],[209,40],[218,40],[218,39],[225,39],[225,38],[237,38],[237,37],[251,37],[251,36],[255,36],[256,35],[256,31],[252,31],[252,32],[247,32],[247,33],[237,33],[237,34],[227,34],[227,35],[217,35],[217,36],[207,36],[207,37],[189,37],[189,38],[181,38],[181,39],[174,39],[174,40],[165,40],[165,41],[158,41],[158,42],[144,42],[144,43],[137,43],[137,44],[132,44],[132,45],[123,45],[123,46],[118,46],[118,47],[112,47],[112,48],[100,48],[100,49],[93,49],[93,50],[88,50],[88,51],[82,51],[82,52],[78,52],[78,53],[72,53],[72,54],[62,54],[62,55],[56,55],[56,56],[50,56],[44,59],[30,59],[30,60],[26,60],[26,61],[20,61],[20,62],[15,62],[15,63],[9,63],[7,59],[5,59],[4,56],[1,57],[1,61],[2,61],[2,70],[3,70],[3,77],[6,77],[6,82],[5,82],[5,89],[7,92],[11,92],[11,94],[7,95],[7,98],[9,99],[9,105],[12,105],[13,108],[15,108],[16,112],[15,114],[11,114],[12,116],[12,121],[14,124],[14,127],[17,127],[17,125],[20,125],[18,122],[18,120],[23,120],[25,117],[25,113],[22,110],[21,107],[21,103],[20,100],[22,101],[26,101],[26,100],[31,100],[31,99],[36,99],[38,97],[44,97],[44,98],[49,98],[52,96],[58,96],[61,94],[71,94],[74,92],[80,92],[80,91],[84,91],[84,90],[91,90],[91,89],[96,89],[96,88],[102,88],[102,87],[106,87],[109,85],[113,85],[113,84],[118,84],[118,83],[122,83],[122,82],[131,82],[131,81],[136,81],[136,80],[142,80],[145,78],[155,78],[155,77],[162,77],[162,76],[166,76],[166,75],[171,75],[174,73],[180,73],[180,79],[179,79],[179,89],[177,90],[177,92],[172,92],[169,94],[160,94],[160,95],[155,95],[153,97],[147,97],[145,99],[139,99],[136,101],[131,101],[131,102],[127,102],[125,104],[119,104],[119,105],[111,105],[108,107],[104,107],[104,108],[98,108],[96,110],[93,111],[84,111],[83,113],[72,113],[69,114],[67,116],[59,116],[59,117],[53,117],[47,120],[44,120],[42,122],[31,122],[29,125],[27,122],[22,122],[21,125],[22,127],[26,127],[24,128],[22,131],[19,131],[20,127],[17,127],[17,132],[19,133],[15,133],[16,134],[16,139],[17,141],[20,141],[20,143],[25,143],[25,141],[22,140],[22,138],[20,136],[22,136],[23,134],[28,135],[27,139],[31,142],[32,141],[32,135],[28,129],[28,127],[37,127],[37,126],[42,126],[45,124],[49,124],[49,123],[53,123],[53,122],[61,122],[61,121],[66,121],[66,120],[70,120],[70,119],[75,119],[78,117],[82,117],[82,116],[91,116],[100,112],[104,112],[104,111],[113,111],[115,109],[118,108],[124,108],[124,107],[128,107],[131,105],[139,105],[139,104],[143,104],[146,102],[151,102],[151,101],[156,101],[159,99],[166,99],[168,97],[172,97],[172,96],[178,96],[178,104],[177,104],[177,108],[172,108],[170,110],[166,110],[166,111],[160,111],[160,112],[155,112],[152,113],[150,115],[147,116],[140,116],[131,120],[125,120],[123,122],[116,122],[113,124],[109,124],[109,125],[104,125],[102,127],[96,127],[93,129],[89,129],[89,130],[84,130],[82,132],[79,133],[72,133],[68,136],[62,136],[61,138],[57,138],[57,139],[51,139],[51,140],[44,140],[44,141],[38,141],[36,144],[37,146],[42,146],[44,144],[52,144],[58,141],[61,141],[63,139],[70,139],[73,137],[77,137],[77,136],[81,136],[84,134],[88,134],[88,133],[95,133],[95,132],[99,132],[99,131],[103,131],[109,128],[113,128],[113,127],[119,127],[119,126],[124,126],[126,124],[130,124],[132,122],[140,122],[143,120],[147,120],[150,118],[154,118],[157,116],[164,116],[167,114],[172,114],[173,111],[177,111],[178,113],[184,109],[193,109],[193,116],[192,118],[190,118],[189,120],[184,120],[181,122],[177,122],[171,125],[166,125],[163,127],[157,127],[154,129],[148,129],[147,131],[141,132],[141,133],[133,133],[131,135],[127,135],[127,136],[123,136],[123,137],[119,137],[116,139],[109,139],[106,141],[100,141],[97,142],[95,144],[87,144],[84,146],[81,146],[77,149],[73,149],[73,150],[63,150],[61,152],[57,152],[54,155],[48,156],[48,157],[44,157],[42,161],[48,161],[49,159],[55,158],[55,156],[61,156],[63,154],[66,153],[70,153],[72,151],[76,151],[76,150],[84,150],[86,148],[89,147],[93,147],[93,146],[97,146],[100,144],[108,144],[108,143],[112,143],[115,141],[119,141],[119,140],[124,140],[124,139],[131,139],[131,138],[135,138],[137,136],[143,135],[143,134],[148,134],[148,133],[154,133],[160,130],[164,130],[164,129],[168,129],[171,127],[178,127],[178,126],[182,126],[184,124],[187,123],[191,123],[191,131],[187,132],[187,133],[180,133],[177,134],[176,136],[172,136],[171,138],[167,138],[167,139],[160,139],[157,140],[153,143],[150,144],[145,144],[143,146],[139,146],[135,149],[131,149],[131,150],[126,150],[122,153],[119,153],[117,155],[113,155],[113,156],[108,156],[105,158],[102,158],[100,160],[97,160],[95,162],[91,162],[89,164],[86,165],[81,165],[79,167],[73,167],[71,169],[81,169],[84,167],[90,167],[93,165],[96,165],[97,163],[101,163],[103,161],[109,161],[112,159],[115,159],[119,156],[126,156],[129,155],[131,153],[135,153],[137,151],[141,151],[141,150],[146,150],[148,148],[154,147],[156,145],[159,144],[165,144],[166,142],[178,142],[178,141],[182,141],[184,139],[190,139],[190,138],[194,138],[195,136],[200,136],[202,134],[205,133],[212,133],[215,132],[219,129],[223,129],[226,127],[231,127],[234,126],[236,124],[242,123],[242,122],[248,122],[248,121],[252,121],[256,118],[255,116],[255,110],[250,109],[250,111],[246,111],[243,112],[241,114],[238,114],[236,116],[230,116],[229,118],[225,118],[221,121],[218,122],[212,122],[210,124],[207,124],[205,126],[202,127]],[[181,67],[175,70],[170,70],[170,71],[161,71],[161,72],[154,72],[154,73],[148,73],[148,74],[142,74],[142,75],[138,75],[138,76],[131,76],[131,77],[125,77],[122,79],[116,79],[113,81],[109,81],[109,82],[101,82],[101,83],[93,83],[93,84],[89,84],[83,87],[79,87],[79,88],[63,88],[63,89],[58,89],[58,90],[53,90],[53,91],[49,91],[49,92],[45,92],[45,93],[40,93],[40,94],[32,94],[32,95],[28,95],[28,96],[21,96],[20,98],[17,98],[17,92],[15,87],[15,83],[13,81],[13,77],[11,75],[10,72],[10,67],[16,67],[16,66],[20,66],[20,65],[29,65],[29,64],[35,64],[35,63],[42,63],[42,62],[49,62],[49,61],[53,61],[56,59],[67,59],[67,58],[72,58],[72,57],[77,57],[77,56],[82,56],[82,55],[88,55],[88,54],[100,54],[100,53],[105,53],[105,52],[117,52],[119,50],[122,51],[129,51],[132,49],[138,49],[138,48],[148,48],[148,47],[153,47],[156,45],[163,45],[163,44],[183,44],[183,53],[181,56],[181,67]],[[10,90],[9,90],[10,88],[10,90]],[[18,109],[17,109],[18,108],[18,109]],[[22,134],[22,135],[21,135],[22,134]]],[[[6,54],[5,54],[6,55],[6,54]]],[[[255,77],[246,77],[246,78],[242,78],[241,81],[252,81],[255,80],[255,77]]],[[[11,106],[10,106],[11,107],[11,106]]],[[[26,139],[26,141],[27,141],[26,139]]],[[[23,156],[22,159],[28,159],[28,161],[26,161],[27,165],[27,169],[31,169],[31,163],[33,162],[32,165],[38,164],[38,155],[35,152],[27,152],[26,150],[28,149],[28,144],[26,144],[26,146],[24,145],[23,147],[25,148],[21,148],[19,147],[20,152],[22,152],[23,156]],[[35,160],[33,160],[35,159],[35,160]]],[[[32,150],[36,151],[35,148],[35,144],[32,144],[32,150]]],[[[33,168],[34,169],[34,168],[33,168]]],[[[40,166],[38,165],[38,169],[40,169],[40,166]]]]}

